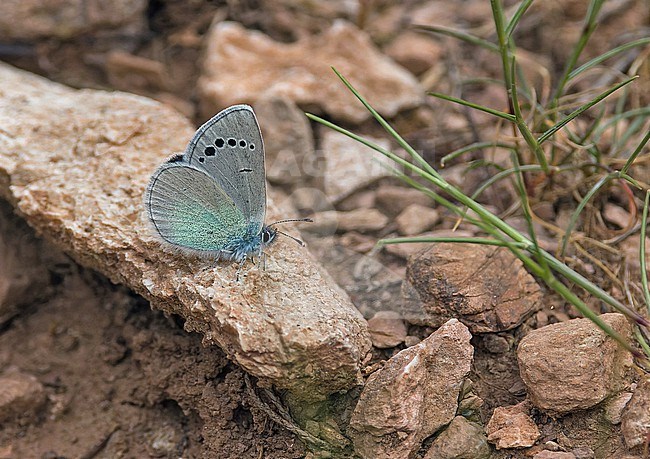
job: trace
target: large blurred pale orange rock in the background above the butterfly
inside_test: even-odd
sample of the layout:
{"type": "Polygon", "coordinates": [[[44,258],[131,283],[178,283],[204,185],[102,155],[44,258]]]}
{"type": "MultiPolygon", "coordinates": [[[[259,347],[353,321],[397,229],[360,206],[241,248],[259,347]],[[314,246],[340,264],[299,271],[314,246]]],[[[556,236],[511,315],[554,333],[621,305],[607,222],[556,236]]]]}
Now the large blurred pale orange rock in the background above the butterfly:
{"type": "Polygon", "coordinates": [[[423,100],[424,92],[413,75],[382,55],[365,32],[345,21],[335,22],[322,35],[289,44],[233,22],[220,22],[212,26],[206,43],[198,86],[207,113],[278,95],[337,119],[368,119],[368,111],[356,103],[331,67],[384,116],[392,117],[423,100]]]}

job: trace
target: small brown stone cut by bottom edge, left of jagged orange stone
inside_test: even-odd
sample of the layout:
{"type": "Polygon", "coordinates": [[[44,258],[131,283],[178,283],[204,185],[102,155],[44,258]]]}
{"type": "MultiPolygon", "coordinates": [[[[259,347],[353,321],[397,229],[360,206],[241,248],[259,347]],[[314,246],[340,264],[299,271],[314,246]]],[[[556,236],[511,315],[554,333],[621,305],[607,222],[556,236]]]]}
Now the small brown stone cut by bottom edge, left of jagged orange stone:
{"type": "Polygon", "coordinates": [[[483,428],[456,416],[433,441],[424,459],[487,459],[490,455],[483,428]]]}

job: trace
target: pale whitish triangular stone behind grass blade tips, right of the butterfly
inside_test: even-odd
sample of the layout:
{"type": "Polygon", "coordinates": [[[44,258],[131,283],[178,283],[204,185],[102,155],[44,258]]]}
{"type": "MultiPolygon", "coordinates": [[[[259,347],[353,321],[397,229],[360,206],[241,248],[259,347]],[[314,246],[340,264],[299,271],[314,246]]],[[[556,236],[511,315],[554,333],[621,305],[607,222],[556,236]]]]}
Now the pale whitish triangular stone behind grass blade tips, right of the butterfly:
{"type": "MultiPolygon", "coordinates": [[[[390,146],[386,139],[366,139],[386,149],[390,146]]],[[[370,147],[332,130],[323,132],[322,151],[325,194],[335,203],[382,177],[391,176],[389,167],[397,166],[370,147]]]]}

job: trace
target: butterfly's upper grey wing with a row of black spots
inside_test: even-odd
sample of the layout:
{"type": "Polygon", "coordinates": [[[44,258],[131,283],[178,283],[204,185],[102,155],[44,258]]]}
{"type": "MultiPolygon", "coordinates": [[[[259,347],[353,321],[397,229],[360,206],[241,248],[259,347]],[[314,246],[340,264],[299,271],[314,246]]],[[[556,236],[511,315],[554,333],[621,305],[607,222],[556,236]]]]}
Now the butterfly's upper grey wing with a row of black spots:
{"type": "Polygon", "coordinates": [[[264,146],[251,107],[233,105],[216,114],[198,129],[183,157],[204,169],[246,221],[262,230],[266,213],[264,146]]]}

